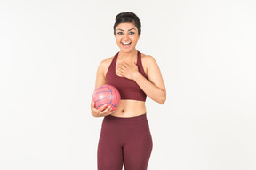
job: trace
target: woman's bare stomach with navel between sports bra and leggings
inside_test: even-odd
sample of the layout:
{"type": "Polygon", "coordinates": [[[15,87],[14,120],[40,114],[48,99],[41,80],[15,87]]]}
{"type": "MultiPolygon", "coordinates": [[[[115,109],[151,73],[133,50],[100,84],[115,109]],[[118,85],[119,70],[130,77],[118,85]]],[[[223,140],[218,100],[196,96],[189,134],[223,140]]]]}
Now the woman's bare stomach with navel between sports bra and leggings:
{"type": "Polygon", "coordinates": [[[116,117],[134,117],[146,113],[145,102],[137,100],[121,100],[116,111],[112,113],[116,117]]]}

